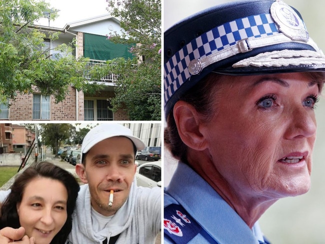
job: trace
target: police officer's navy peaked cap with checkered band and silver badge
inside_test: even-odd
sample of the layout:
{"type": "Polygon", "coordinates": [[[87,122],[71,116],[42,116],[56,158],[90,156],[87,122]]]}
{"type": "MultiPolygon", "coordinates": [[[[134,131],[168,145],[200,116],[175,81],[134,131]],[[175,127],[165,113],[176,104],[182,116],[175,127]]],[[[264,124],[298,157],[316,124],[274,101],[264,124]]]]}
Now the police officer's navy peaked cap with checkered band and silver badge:
{"type": "MultiPolygon", "coordinates": [[[[248,0],[238,2],[237,5],[249,8],[251,5],[262,4],[261,2],[248,0]],[[246,5],[242,5],[243,3],[246,5]]],[[[211,17],[204,13],[196,14],[175,25],[171,32],[166,31],[167,44],[164,47],[167,53],[164,63],[166,116],[178,96],[212,70],[229,75],[306,71],[317,68],[325,70],[325,56],[309,37],[300,16],[282,1],[264,0],[264,2],[270,5],[268,12],[222,23],[199,34],[188,43],[182,43],[183,46],[178,47],[179,49],[168,46],[168,38],[174,36],[172,32],[177,29],[193,31],[190,28],[191,19],[205,17],[207,21],[211,17]]],[[[236,5],[231,4],[228,9],[225,7],[227,5],[223,6],[229,14],[231,6],[236,5]]],[[[222,7],[216,9],[223,10],[222,7]]],[[[209,9],[207,12],[213,10],[209,9]]],[[[223,15],[226,10],[223,10],[223,15]]],[[[249,12],[249,9],[243,11],[249,12]]],[[[181,36],[179,38],[181,39],[181,36]]]]}

